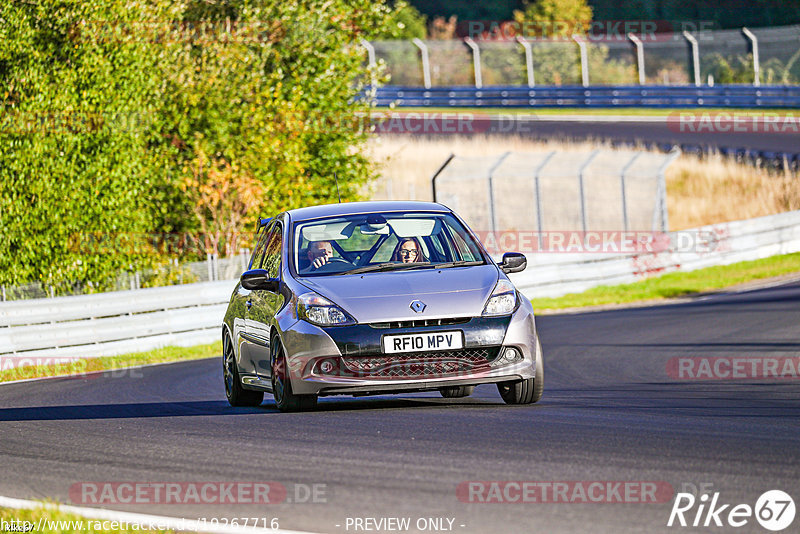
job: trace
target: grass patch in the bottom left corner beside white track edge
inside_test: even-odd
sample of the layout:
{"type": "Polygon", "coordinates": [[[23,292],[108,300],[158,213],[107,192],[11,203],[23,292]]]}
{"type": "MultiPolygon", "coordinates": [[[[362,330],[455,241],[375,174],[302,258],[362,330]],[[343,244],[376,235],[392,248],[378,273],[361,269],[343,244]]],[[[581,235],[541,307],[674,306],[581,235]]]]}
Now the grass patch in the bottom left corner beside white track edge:
{"type": "Polygon", "coordinates": [[[0,520],[7,523],[6,530],[13,532],[11,528],[15,525],[21,528],[17,532],[48,532],[54,534],[67,534],[72,532],[79,532],[82,534],[127,534],[129,532],[136,533],[153,533],[172,531],[153,531],[142,530],[130,524],[113,522],[107,519],[88,519],[75,514],[62,512],[61,510],[48,510],[46,508],[38,508],[34,510],[16,510],[14,508],[0,508],[0,520]],[[13,523],[12,523],[13,521],[13,523]],[[41,530],[39,527],[41,526],[41,530]],[[27,528],[27,530],[23,530],[27,528]]]}

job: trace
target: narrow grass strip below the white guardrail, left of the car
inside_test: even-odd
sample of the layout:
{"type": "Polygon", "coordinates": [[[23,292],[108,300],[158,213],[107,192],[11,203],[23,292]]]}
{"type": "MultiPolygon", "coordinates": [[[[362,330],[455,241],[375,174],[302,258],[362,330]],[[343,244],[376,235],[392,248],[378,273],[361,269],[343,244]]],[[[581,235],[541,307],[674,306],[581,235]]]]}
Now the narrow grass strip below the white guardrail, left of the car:
{"type": "MultiPolygon", "coordinates": [[[[131,354],[120,354],[118,356],[81,358],[75,359],[74,361],[54,363],[52,365],[29,365],[25,367],[13,367],[9,365],[9,368],[5,368],[4,366],[4,368],[0,370],[0,382],[10,382],[12,380],[22,380],[26,378],[111,371],[114,369],[125,369],[127,367],[151,363],[198,360],[219,356],[220,354],[222,354],[222,344],[217,341],[208,345],[198,345],[194,347],[164,347],[147,352],[134,352],[131,354]]],[[[51,360],[59,361],[58,358],[51,358],[51,360]]]]}

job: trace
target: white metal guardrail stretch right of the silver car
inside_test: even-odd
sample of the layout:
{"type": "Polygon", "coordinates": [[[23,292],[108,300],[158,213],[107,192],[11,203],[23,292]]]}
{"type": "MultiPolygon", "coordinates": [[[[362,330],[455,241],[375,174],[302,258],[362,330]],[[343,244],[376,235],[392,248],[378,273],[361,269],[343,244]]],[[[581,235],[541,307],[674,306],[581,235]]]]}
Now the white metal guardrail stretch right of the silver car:
{"type": "Polygon", "coordinates": [[[800,211],[670,232],[671,242],[677,243],[680,235],[701,236],[712,245],[642,254],[528,252],[528,268],[511,279],[528,298],[558,297],[654,274],[800,252],[800,211]]]}

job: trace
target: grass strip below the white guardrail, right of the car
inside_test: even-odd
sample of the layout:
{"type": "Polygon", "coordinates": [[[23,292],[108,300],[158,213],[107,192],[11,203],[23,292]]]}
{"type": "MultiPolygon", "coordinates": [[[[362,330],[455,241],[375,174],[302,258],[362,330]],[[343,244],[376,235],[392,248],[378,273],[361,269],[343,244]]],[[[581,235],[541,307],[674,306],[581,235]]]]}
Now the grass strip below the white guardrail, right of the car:
{"type": "Polygon", "coordinates": [[[632,284],[599,286],[583,293],[533,299],[531,302],[533,308],[540,311],[661,300],[798,272],[800,272],[800,253],[786,254],[691,272],[669,273],[632,284]]]}

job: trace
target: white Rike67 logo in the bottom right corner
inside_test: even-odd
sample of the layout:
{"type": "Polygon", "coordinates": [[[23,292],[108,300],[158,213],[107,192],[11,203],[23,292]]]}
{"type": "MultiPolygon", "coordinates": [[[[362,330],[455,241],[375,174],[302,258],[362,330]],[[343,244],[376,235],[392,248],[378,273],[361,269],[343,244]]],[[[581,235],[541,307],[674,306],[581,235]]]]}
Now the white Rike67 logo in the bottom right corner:
{"type": "MultiPolygon", "coordinates": [[[[691,493],[678,493],[667,526],[740,528],[755,520],[773,532],[784,530],[792,524],[795,505],[792,497],[781,490],[764,492],[755,506],[724,503],[717,491],[711,497],[707,493],[696,498],[691,493]]],[[[748,531],[751,531],[748,529],[748,531]]]]}

